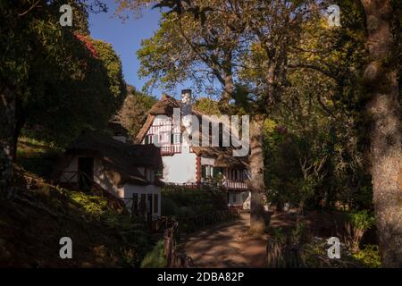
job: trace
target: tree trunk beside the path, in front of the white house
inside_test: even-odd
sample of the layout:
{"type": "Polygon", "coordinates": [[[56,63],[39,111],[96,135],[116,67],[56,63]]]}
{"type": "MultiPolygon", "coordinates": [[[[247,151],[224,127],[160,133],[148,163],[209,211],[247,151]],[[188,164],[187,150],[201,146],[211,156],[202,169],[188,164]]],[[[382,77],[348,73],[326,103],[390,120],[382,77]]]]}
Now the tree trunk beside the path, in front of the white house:
{"type": "Polygon", "coordinates": [[[250,231],[264,233],[264,153],[263,153],[264,116],[255,115],[251,121],[249,159],[251,180],[250,231]]]}

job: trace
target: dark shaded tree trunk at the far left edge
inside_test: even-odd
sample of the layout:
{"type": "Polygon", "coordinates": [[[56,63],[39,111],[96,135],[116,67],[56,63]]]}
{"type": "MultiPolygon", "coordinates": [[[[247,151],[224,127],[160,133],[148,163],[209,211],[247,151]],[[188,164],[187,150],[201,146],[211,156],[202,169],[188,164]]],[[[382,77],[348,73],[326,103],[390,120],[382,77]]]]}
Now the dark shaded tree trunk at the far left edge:
{"type": "Polygon", "coordinates": [[[13,197],[13,132],[15,100],[10,88],[0,89],[0,199],[13,197]]]}

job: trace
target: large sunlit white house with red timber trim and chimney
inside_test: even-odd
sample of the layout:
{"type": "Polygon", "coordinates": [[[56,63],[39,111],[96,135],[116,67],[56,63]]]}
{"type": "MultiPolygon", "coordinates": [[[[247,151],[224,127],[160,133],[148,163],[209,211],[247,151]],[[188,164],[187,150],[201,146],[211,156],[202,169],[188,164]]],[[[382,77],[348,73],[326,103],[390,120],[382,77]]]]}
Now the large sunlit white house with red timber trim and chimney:
{"type": "Polygon", "coordinates": [[[144,145],[156,143],[161,148],[161,180],[188,186],[203,186],[210,181],[218,181],[220,188],[227,192],[229,206],[249,209],[247,156],[232,156],[230,147],[192,146],[190,139],[183,139],[183,121],[180,120],[179,124],[175,122],[174,108],[180,108],[181,118],[188,114],[210,118],[193,108],[189,89],[182,91],[180,102],[163,95],[148,111],[147,121],[139,130],[135,142],[144,145]]]}

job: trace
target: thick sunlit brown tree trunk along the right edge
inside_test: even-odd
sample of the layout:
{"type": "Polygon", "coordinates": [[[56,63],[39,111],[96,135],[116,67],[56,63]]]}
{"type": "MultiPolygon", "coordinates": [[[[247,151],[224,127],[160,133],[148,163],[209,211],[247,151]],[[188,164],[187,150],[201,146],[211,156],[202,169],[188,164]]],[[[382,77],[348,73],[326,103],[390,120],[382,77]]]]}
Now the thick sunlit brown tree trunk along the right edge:
{"type": "Polygon", "coordinates": [[[362,0],[367,20],[367,46],[371,63],[364,71],[370,90],[366,111],[372,120],[371,162],[382,266],[402,266],[402,189],[398,184],[401,164],[401,108],[393,59],[389,0],[362,0]]]}

